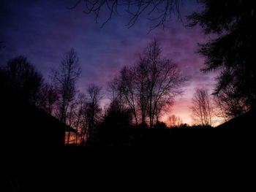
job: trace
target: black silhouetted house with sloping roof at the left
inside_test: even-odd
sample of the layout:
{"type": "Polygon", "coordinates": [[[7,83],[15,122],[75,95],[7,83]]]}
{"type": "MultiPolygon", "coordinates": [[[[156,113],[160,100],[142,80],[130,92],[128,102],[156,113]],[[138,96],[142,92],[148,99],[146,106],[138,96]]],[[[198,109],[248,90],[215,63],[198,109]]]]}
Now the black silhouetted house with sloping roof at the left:
{"type": "Polygon", "coordinates": [[[15,97],[1,96],[1,140],[7,150],[58,150],[65,133],[75,129],[47,112],[15,97]]]}

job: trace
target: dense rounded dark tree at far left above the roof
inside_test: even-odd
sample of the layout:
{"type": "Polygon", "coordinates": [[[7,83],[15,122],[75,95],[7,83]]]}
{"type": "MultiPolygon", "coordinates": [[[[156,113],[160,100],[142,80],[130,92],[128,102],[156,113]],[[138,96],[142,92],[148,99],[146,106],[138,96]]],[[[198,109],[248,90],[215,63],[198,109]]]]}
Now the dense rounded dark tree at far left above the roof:
{"type": "Polygon", "coordinates": [[[0,83],[5,91],[37,104],[44,80],[26,57],[12,58],[0,71],[0,83]]]}

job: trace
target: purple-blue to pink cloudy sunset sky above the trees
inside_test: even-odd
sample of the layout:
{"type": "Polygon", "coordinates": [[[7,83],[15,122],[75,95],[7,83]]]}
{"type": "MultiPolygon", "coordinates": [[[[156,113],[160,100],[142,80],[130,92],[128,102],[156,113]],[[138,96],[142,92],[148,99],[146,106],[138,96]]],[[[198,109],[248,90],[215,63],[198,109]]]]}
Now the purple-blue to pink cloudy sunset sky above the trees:
{"type": "Polygon", "coordinates": [[[176,115],[183,123],[192,124],[191,99],[195,88],[214,88],[215,74],[203,74],[204,58],[197,54],[198,43],[211,40],[200,27],[186,26],[186,15],[202,9],[194,0],[184,0],[181,5],[181,20],[175,16],[167,21],[165,28],[155,28],[148,34],[152,23],[142,15],[137,23],[127,28],[128,15],[119,9],[119,15],[102,28],[107,18],[103,11],[99,23],[94,15],[83,13],[83,4],[67,9],[75,0],[3,0],[0,7],[0,65],[10,58],[25,55],[47,80],[56,69],[63,54],[73,47],[78,53],[82,74],[78,89],[86,91],[90,83],[102,87],[118,74],[122,66],[132,66],[138,61],[143,48],[157,39],[162,47],[162,56],[178,65],[188,81],[182,87],[184,93],[176,101],[168,115],[176,115]]]}

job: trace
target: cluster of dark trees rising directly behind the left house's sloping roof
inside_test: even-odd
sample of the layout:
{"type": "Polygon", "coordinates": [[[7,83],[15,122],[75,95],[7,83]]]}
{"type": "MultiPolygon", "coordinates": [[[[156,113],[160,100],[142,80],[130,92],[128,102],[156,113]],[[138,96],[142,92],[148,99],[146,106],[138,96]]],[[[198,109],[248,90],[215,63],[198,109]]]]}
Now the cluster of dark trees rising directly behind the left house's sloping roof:
{"type": "MultiPolygon", "coordinates": [[[[78,134],[72,139],[78,143],[89,137],[101,111],[98,98],[100,88],[97,85],[90,85],[87,94],[78,92],[75,85],[80,73],[78,55],[74,49],[64,53],[61,64],[51,72],[48,82],[21,55],[1,67],[0,86],[3,94],[18,96],[75,128],[78,134]]],[[[67,143],[69,140],[70,134],[67,135],[67,143]]]]}

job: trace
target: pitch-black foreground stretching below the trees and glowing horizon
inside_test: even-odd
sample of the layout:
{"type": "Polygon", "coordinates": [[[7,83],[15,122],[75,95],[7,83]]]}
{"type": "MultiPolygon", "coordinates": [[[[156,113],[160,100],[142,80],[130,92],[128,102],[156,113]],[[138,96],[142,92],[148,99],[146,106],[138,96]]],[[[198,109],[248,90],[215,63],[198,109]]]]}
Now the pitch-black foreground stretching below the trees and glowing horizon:
{"type": "Polygon", "coordinates": [[[180,181],[187,175],[189,180],[197,178],[201,187],[217,175],[218,182],[208,185],[211,189],[219,180],[227,184],[236,177],[241,183],[255,164],[255,112],[248,114],[217,128],[131,128],[99,134],[85,146],[49,148],[14,141],[1,151],[0,191],[95,191],[102,186],[120,191],[163,183],[170,187],[173,174],[180,181]]]}

